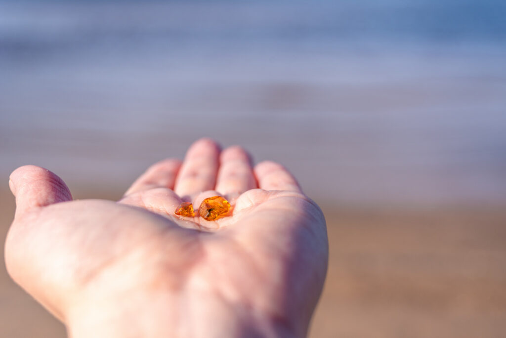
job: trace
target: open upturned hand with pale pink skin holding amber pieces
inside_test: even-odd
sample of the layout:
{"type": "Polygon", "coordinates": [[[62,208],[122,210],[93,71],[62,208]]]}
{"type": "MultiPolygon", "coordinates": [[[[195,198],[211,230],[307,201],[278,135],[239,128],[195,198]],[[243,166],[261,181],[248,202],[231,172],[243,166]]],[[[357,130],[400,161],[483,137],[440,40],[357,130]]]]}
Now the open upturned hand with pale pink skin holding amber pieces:
{"type": "Polygon", "coordinates": [[[117,202],[73,201],[58,176],[22,166],[9,181],[8,272],[74,338],[305,336],[327,270],[325,219],[280,164],[250,163],[201,139],[117,202]],[[216,195],[229,216],[174,215],[216,195]]]}

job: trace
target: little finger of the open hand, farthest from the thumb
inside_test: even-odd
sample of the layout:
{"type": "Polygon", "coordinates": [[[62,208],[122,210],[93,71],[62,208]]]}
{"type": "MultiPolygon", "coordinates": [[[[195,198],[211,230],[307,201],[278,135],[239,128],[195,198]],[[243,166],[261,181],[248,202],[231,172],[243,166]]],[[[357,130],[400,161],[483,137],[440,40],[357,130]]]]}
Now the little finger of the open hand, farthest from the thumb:
{"type": "Polygon", "coordinates": [[[264,161],[254,171],[261,189],[302,192],[297,180],[279,163],[264,161]]]}

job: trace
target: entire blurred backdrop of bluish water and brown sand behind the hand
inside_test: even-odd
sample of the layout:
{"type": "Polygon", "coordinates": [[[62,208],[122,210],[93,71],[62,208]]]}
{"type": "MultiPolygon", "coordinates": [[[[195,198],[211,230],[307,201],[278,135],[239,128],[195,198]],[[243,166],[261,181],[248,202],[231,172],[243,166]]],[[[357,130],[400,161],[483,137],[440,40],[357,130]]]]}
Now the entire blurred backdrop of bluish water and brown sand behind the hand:
{"type": "MultiPolygon", "coordinates": [[[[118,199],[202,136],[322,206],[311,337],[504,336],[504,1],[0,0],[3,236],[17,166],[118,199]]],[[[65,336],[5,268],[0,335],[65,336]]]]}

